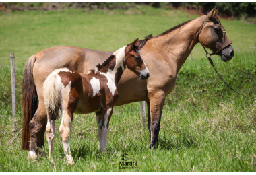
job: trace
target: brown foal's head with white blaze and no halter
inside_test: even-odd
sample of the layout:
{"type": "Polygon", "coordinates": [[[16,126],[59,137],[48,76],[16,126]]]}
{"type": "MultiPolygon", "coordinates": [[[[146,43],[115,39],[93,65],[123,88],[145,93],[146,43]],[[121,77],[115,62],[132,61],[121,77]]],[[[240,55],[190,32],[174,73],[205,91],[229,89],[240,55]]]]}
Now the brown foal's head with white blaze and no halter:
{"type": "Polygon", "coordinates": [[[139,52],[138,42],[139,38],[125,47],[125,65],[141,79],[148,79],[150,73],[139,52]]]}

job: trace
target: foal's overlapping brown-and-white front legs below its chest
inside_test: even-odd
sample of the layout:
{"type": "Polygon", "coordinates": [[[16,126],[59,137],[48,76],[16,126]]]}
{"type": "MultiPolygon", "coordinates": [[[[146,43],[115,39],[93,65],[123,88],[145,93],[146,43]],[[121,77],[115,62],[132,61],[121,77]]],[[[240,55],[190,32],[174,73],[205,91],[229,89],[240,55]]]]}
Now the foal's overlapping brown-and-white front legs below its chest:
{"type": "Polygon", "coordinates": [[[106,143],[108,140],[108,124],[113,113],[113,106],[95,113],[98,125],[98,140],[100,141],[100,151],[106,153],[106,143]]]}

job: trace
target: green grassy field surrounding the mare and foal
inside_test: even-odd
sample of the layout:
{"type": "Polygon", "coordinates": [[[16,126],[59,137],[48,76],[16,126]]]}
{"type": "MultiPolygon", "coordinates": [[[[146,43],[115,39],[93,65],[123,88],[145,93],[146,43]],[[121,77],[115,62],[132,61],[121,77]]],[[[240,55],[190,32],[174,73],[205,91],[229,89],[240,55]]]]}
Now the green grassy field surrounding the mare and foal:
{"type": "MultiPolygon", "coordinates": [[[[0,58],[29,57],[51,46],[80,46],[117,50],[135,38],[156,36],[197,17],[183,11],[152,9],[128,11],[25,11],[0,13],[0,58]]],[[[221,19],[234,48],[254,47],[256,26],[221,19]]],[[[194,50],[202,50],[198,44],[194,50]]],[[[239,92],[256,98],[255,49],[236,49],[232,61],[214,63],[224,79],[239,92]]],[[[148,148],[140,103],[116,107],[110,120],[108,153],[99,152],[94,114],[75,115],[71,128],[71,153],[75,165],[67,166],[59,134],[55,164],[46,157],[28,160],[21,150],[22,71],[27,58],[15,60],[18,132],[12,119],[0,117],[0,172],[255,172],[256,103],[234,94],[218,79],[203,51],[194,51],[179,72],[177,86],[166,98],[160,145],[148,148]],[[119,169],[125,152],[137,168],[119,169]]],[[[9,59],[0,59],[0,116],[11,116],[9,59]]],[[[60,120],[57,121],[59,129],[60,120]]],[[[46,143],[46,152],[48,145],[46,143]]]]}

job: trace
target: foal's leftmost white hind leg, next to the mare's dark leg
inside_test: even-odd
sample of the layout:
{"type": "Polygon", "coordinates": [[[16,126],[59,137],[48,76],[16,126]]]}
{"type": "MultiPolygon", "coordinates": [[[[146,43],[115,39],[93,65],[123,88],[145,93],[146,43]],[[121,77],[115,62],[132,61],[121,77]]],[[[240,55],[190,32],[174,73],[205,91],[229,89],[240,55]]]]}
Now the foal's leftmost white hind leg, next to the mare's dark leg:
{"type": "Polygon", "coordinates": [[[46,126],[46,137],[49,145],[49,159],[53,162],[53,140],[55,137],[55,120],[51,120],[49,116],[47,116],[47,126],[46,126]]]}

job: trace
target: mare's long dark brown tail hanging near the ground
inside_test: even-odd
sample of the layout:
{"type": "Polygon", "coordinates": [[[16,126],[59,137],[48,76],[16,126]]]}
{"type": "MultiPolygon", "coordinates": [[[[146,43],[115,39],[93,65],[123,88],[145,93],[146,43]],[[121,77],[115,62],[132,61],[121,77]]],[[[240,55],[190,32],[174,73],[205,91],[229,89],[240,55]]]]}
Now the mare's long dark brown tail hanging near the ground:
{"type": "Polygon", "coordinates": [[[22,87],[22,112],[23,112],[23,129],[22,129],[22,149],[29,149],[30,129],[29,123],[32,120],[36,109],[38,108],[38,96],[36,85],[34,84],[33,67],[36,62],[36,55],[30,57],[26,63],[23,74],[22,87]]]}

